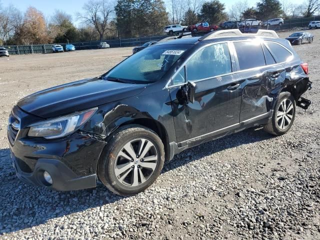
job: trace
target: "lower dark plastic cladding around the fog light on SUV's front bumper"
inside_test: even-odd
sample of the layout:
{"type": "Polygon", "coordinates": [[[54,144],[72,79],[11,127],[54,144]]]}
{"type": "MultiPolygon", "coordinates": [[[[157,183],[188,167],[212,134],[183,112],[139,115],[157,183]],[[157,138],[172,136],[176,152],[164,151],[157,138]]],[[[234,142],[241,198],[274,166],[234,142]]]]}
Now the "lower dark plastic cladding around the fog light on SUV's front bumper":
{"type": "Polygon", "coordinates": [[[18,161],[11,152],[12,164],[17,177],[28,184],[48,187],[59,191],[78,190],[95,187],[96,174],[77,176],[63,162],[56,159],[39,158],[32,172],[20,169],[18,161]],[[47,171],[52,177],[52,184],[44,180],[43,172],[47,171]]]}

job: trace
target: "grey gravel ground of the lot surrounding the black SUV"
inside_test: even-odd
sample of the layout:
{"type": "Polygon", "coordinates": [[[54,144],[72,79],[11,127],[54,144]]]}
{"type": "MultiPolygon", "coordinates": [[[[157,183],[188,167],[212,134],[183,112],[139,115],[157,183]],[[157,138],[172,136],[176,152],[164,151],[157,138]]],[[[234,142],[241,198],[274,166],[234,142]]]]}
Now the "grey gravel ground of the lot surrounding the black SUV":
{"type": "Polygon", "coordinates": [[[130,197],[102,184],[55,192],[20,182],[6,121],[22,96],[97,75],[131,48],[0,58],[0,238],[320,239],[320,30],[312,33],[312,44],[294,46],[309,63],[312,104],[287,134],[255,127],[185,150],[130,197]]]}

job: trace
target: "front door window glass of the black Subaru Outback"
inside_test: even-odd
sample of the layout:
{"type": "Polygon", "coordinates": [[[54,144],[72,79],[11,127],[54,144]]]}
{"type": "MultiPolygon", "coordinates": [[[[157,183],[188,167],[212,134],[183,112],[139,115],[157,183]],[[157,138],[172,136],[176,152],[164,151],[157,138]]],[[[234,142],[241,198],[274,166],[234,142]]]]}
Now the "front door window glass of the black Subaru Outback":
{"type": "Polygon", "coordinates": [[[232,71],[227,43],[213,44],[196,52],[186,63],[187,80],[198,80],[232,71]]]}

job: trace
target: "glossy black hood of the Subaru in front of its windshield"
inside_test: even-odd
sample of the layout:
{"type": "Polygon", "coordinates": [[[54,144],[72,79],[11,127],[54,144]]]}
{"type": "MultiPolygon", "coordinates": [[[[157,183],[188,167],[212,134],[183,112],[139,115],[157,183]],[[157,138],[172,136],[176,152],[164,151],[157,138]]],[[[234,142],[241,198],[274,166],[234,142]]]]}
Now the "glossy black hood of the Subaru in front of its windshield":
{"type": "Polygon", "coordinates": [[[95,77],[35,92],[20,99],[17,105],[26,112],[47,118],[134,96],[145,86],[95,77]]]}

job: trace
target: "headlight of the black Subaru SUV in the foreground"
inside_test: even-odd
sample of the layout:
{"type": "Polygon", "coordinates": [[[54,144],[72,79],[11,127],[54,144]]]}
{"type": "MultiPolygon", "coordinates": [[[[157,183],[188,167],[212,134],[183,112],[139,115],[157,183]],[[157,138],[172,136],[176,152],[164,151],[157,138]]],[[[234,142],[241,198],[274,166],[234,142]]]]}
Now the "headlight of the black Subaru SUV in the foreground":
{"type": "Polygon", "coordinates": [[[83,125],[97,110],[97,107],[51,120],[29,125],[28,136],[39,136],[46,139],[68,135],[83,125]]]}

